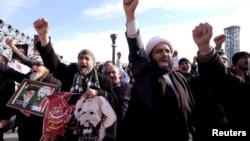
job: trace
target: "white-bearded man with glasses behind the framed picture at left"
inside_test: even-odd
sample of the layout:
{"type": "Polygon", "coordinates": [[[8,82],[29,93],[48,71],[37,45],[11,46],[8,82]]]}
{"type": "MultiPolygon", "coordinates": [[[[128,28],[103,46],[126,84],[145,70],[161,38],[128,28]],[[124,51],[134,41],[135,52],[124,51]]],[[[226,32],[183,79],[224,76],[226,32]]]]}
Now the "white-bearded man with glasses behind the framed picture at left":
{"type": "MultiPolygon", "coordinates": [[[[3,63],[0,63],[0,73],[18,83],[21,83],[23,79],[30,79],[58,85],[59,88],[61,87],[61,81],[49,73],[49,70],[44,66],[40,56],[36,56],[32,59],[32,68],[27,74],[18,72],[9,67],[7,64],[3,63]]],[[[20,113],[17,114],[16,122],[18,126],[19,141],[38,141],[41,138],[43,129],[42,117],[32,115],[31,113],[24,110],[20,110],[20,113]]]]}

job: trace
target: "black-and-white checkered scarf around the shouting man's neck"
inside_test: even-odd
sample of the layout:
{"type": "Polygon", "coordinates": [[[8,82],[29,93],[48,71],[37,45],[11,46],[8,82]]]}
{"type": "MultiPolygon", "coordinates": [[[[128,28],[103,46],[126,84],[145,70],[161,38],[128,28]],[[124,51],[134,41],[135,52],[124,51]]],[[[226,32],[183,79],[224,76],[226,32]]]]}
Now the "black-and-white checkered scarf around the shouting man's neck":
{"type": "Polygon", "coordinates": [[[85,92],[88,88],[100,89],[100,84],[98,80],[98,75],[97,71],[93,69],[89,77],[84,79],[83,75],[80,72],[77,72],[74,76],[74,80],[70,89],[70,92],[72,93],[83,93],[85,92]]]}

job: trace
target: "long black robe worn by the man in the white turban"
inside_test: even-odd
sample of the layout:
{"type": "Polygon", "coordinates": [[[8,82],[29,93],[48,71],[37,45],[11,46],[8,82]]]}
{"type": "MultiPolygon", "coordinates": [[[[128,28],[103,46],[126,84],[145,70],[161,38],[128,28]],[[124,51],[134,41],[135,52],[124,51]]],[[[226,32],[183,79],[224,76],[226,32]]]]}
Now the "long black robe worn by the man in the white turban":
{"type": "MultiPolygon", "coordinates": [[[[135,82],[124,119],[127,128],[124,140],[174,138],[178,141],[186,141],[193,129],[190,116],[194,103],[185,77],[175,71],[169,73],[173,85],[179,93],[182,106],[178,108],[177,105],[173,106],[176,104],[174,100],[167,98],[173,92],[165,89],[165,81],[159,81],[161,76],[154,72],[154,68],[147,61],[140,34],[133,39],[127,37],[127,41],[129,62],[132,64],[131,71],[135,82]],[[169,106],[173,107],[169,108],[169,106]]],[[[171,98],[175,98],[175,96],[171,98]]]]}

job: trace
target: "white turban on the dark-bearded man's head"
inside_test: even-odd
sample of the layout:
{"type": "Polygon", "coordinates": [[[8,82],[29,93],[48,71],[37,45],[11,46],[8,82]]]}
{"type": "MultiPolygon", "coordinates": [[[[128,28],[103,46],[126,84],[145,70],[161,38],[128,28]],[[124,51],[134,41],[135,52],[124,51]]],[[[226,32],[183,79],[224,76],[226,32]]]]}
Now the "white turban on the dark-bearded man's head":
{"type": "Polygon", "coordinates": [[[148,44],[146,46],[146,55],[148,57],[149,57],[150,53],[152,52],[152,50],[154,49],[154,47],[156,45],[158,45],[159,43],[167,44],[169,46],[171,52],[173,53],[173,47],[167,39],[165,39],[164,37],[161,37],[161,36],[155,36],[148,41],[148,44]]]}

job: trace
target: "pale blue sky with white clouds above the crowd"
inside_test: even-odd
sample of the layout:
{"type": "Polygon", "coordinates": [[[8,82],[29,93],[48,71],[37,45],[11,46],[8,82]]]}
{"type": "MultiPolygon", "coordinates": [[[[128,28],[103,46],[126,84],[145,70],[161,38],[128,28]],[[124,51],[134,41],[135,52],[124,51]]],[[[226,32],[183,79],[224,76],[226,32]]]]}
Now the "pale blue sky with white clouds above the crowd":
{"type": "MultiPolygon", "coordinates": [[[[197,47],[192,39],[196,25],[209,22],[214,37],[224,28],[240,26],[240,50],[249,51],[250,4],[247,0],[141,0],[137,21],[144,45],[155,36],[165,36],[178,50],[179,58],[192,59],[197,47]]],[[[122,0],[0,0],[0,19],[26,35],[36,34],[34,20],[50,22],[55,51],[75,62],[77,53],[91,49],[98,61],[112,60],[110,34],[117,34],[116,52],[128,62],[125,15],[122,0]]],[[[214,45],[212,43],[212,45],[214,45]]]]}

